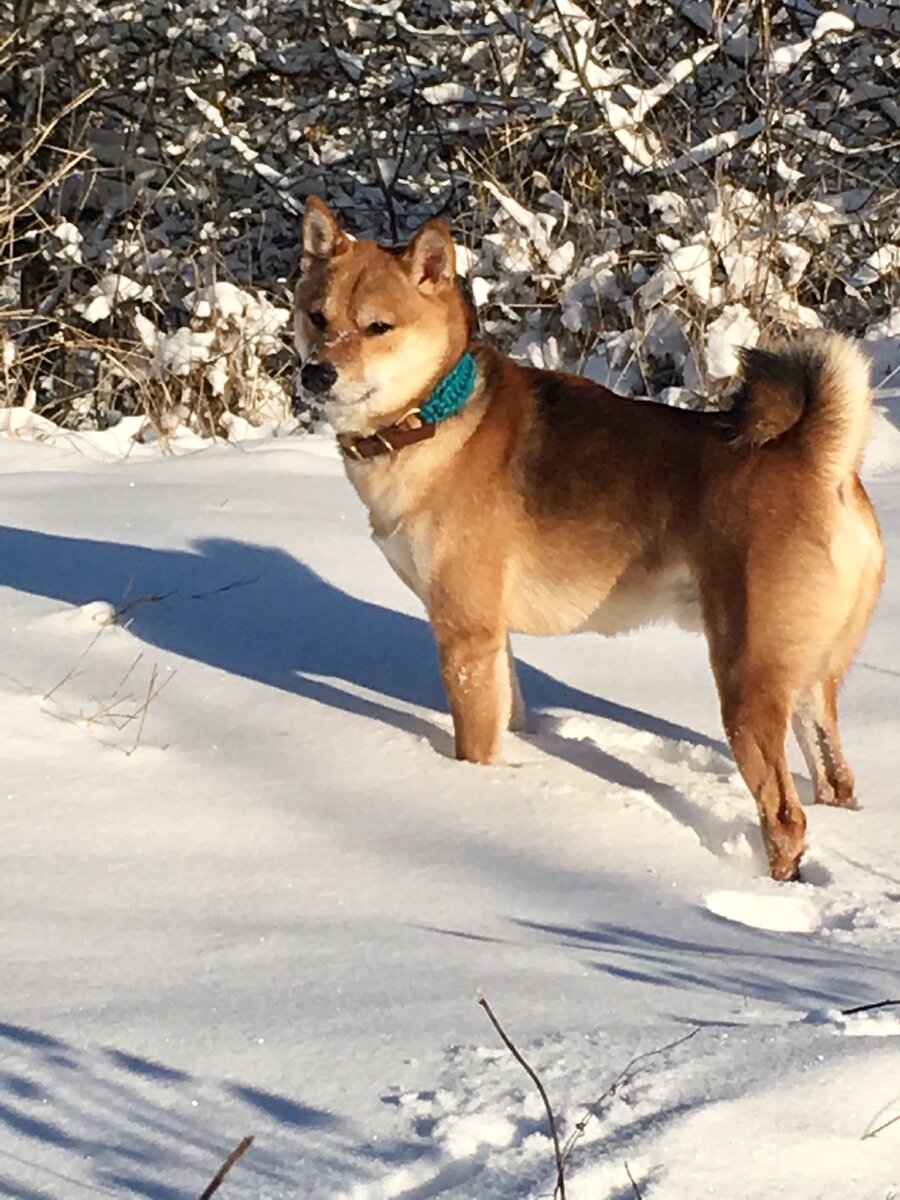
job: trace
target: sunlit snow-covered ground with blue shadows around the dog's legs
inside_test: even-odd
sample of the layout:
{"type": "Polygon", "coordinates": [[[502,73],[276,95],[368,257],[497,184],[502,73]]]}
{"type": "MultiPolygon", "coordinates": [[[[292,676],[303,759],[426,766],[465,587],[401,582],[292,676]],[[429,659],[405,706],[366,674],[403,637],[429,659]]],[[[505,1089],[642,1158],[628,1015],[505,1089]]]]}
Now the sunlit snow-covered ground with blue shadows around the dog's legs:
{"type": "Polygon", "coordinates": [[[535,732],[460,764],[326,437],[38,432],[0,440],[0,1195],[188,1200],[245,1134],[223,1200],[550,1195],[479,988],[564,1142],[605,1096],[570,1200],[900,1190],[900,1008],[839,1013],[900,997],[893,566],[863,810],[775,884],[701,638],[522,640],[535,732]]]}

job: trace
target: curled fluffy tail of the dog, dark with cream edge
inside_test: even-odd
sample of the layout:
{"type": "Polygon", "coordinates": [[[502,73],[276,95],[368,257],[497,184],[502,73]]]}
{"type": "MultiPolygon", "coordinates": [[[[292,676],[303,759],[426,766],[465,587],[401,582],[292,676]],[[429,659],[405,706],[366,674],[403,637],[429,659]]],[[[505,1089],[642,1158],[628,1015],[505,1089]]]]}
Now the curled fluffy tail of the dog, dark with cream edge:
{"type": "Polygon", "coordinates": [[[869,359],[839,334],[744,350],[732,409],[737,445],[790,439],[835,485],[859,469],[869,436],[869,359]]]}

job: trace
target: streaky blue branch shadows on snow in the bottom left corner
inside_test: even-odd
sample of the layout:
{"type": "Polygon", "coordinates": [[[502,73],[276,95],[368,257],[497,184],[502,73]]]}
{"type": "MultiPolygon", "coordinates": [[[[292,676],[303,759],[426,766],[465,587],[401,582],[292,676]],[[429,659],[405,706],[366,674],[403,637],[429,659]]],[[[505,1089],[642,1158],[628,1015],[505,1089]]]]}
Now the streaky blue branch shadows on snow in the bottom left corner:
{"type": "Polygon", "coordinates": [[[238,1194],[331,1195],[430,1154],[424,1141],[372,1145],[293,1097],[22,1025],[0,1022],[0,1195],[20,1200],[193,1200],[247,1133],[238,1194]]]}

